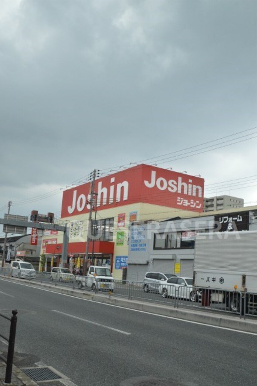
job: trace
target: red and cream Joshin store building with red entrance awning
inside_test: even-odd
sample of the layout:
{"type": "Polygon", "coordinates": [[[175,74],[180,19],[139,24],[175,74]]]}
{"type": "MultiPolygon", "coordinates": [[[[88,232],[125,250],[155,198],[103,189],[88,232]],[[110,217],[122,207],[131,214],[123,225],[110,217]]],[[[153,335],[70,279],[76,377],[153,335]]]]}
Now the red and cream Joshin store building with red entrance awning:
{"type": "MultiPolygon", "coordinates": [[[[68,258],[80,266],[86,251],[90,212],[90,183],[63,192],[61,225],[69,226],[68,258]]],[[[204,180],[150,165],[137,165],[95,181],[89,258],[110,264],[114,278],[122,278],[128,260],[128,227],[135,221],[191,217],[203,212],[204,180]]],[[[61,232],[46,231],[41,254],[59,265],[61,232]]]]}

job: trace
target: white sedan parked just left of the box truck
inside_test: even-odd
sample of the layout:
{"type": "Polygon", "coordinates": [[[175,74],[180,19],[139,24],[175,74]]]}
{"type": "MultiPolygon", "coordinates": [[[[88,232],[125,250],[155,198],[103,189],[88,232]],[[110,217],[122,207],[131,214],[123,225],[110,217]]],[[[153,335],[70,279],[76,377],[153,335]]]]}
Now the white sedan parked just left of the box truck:
{"type": "Polygon", "coordinates": [[[193,288],[193,279],[184,277],[168,279],[161,286],[161,294],[163,298],[173,297],[190,301],[198,301],[201,296],[201,293],[193,288]]]}

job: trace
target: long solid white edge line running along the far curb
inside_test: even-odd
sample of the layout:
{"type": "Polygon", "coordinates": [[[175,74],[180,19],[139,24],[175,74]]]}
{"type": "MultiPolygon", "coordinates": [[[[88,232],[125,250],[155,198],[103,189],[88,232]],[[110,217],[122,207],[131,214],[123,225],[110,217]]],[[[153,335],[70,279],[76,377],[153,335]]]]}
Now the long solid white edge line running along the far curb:
{"type": "MultiPolygon", "coordinates": [[[[15,281],[10,281],[10,280],[7,280],[7,279],[2,279],[2,278],[0,278],[0,280],[2,280],[2,281],[8,281],[8,283],[12,283],[12,284],[19,284],[20,286],[25,286],[25,287],[30,287],[30,288],[32,287],[32,286],[30,286],[30,285],[28,285],[28,284],[17,283],[17,282],[15,282],[15,281]]],[[[255,332],[248,332],[248,331],[235,330],[235,329],[233,329],[233,328],[214,326],[214,325],[212,325],[212,324],[201,323],[201,322],[193,322],[192,320],[186,320],[186,319],[181,319],[181,318],[174,318],[174,317],[172,317],[172,316],[160,315],[160,314],[153,313],[153,312],[134,310],[133,308],[127,308],[127,307],[122,307],[122,306],[116,306],[116,305],[114,305],[114,304],[108,304],[108,303],[101,303],[101,301],[96,301],[96,300],[89,300],[89,299],[78,298],[77,296],[67,295],[67,294],[65,294],[65,293],[54,292],[54,291],[51,291],[50,289],[45,289],[45,288],[40,288],[40,287],[33,287],[33,288],[39,289],[40,291],[46,291],[46,292],[55,293],[56,295],[68,296],[69,298],[75,298],[75,299],[77,299],[77,300],[91,301],[92,303],[98,303],[98,304],[105,305],[105,306],[109,306],[109,307],[122,308],[123,310],[127,310],[127,311],[141,312],[141,313],[145,313],[145,314],[149,314],[149,315],[153,315],[153,316],[157,316],[157,317],[161,317],[161,318],[168,318],[168,319],[173,319],[173,320],[179,320],[179,321],[181,321],[181,322],[192,323],[192,324],[199,324],[199,325],[201,325],[201,326],[206,326],[206,327],[211,327],[211,328],[220,328],[221,330],[228,330],[228,331],[238,332],[238,333],[241,333],[241,334],[249,334],[249,335],[255,335],[255,336],[257,336],[257,334],[256,334],[255,332]]],[[[217,315],[219,315],[219,314],[217,314],[217,315]]]]}

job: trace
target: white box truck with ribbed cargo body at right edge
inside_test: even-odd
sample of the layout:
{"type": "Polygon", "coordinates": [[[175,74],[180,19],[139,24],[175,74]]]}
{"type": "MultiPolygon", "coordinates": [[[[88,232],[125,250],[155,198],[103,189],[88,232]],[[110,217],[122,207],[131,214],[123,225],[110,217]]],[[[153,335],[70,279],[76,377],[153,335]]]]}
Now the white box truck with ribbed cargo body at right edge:
{"type": "Polygon", "coordinates": [[[193,284],[202,288],[202,304],[227,303],[239,312],[240,293],[247,312],[257,311],[257,232],[210,232],[196,235],[193,284]],[[211,298],[206,300],[204,289],[211,298]]]}

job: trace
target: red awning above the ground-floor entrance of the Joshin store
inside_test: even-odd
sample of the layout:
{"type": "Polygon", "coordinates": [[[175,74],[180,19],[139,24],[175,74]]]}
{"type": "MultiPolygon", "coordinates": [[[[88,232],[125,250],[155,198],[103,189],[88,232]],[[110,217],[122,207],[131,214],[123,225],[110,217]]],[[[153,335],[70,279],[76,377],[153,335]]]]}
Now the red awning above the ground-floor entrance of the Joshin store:
{"type": "MultiPolygon", "coordinates": [[[[47,255],[59,255],[62,254],[63,244],[46,244],[47,255]]],[[[68,254],[85,254],[86,242],[71,242],[68,245],[68,254]]],[[[94,253],[101,254],[113,254],[114,242],[111,241],[95,241],[94,253]]],[[[90,254],[93,252],[93,241],[89,242],[90,254]]]]}

